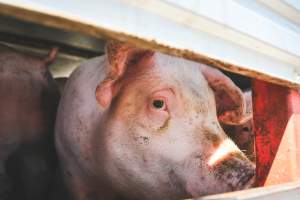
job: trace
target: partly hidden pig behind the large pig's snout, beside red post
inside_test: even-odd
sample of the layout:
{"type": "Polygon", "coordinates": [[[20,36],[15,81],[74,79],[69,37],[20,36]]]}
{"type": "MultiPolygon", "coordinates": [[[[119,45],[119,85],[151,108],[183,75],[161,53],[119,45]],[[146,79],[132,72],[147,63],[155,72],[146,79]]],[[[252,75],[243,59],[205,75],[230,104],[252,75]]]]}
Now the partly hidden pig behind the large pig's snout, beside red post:
{"type": "Polygon", "coordinates": [[[255,138],[253,132],[253,112],[252,112],[252,93],[245,91],[246,99],[246,116],[244,122],[239,125],[222,124],[227,135],[237,144],[237,146],[247,155],[247,157],[255,162],[255,138]]]}

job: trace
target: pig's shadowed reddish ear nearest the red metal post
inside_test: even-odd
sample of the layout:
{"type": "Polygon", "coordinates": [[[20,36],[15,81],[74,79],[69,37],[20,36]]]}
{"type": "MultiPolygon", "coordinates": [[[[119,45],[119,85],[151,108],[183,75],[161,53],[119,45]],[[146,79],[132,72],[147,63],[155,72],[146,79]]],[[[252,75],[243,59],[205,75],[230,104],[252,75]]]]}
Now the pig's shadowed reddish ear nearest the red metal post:
{"type": "Polygon", "coordinates": [[[243,123],[246,101],[240,88],[215,68],[201,64],[201,71],[215,93],[219,121],[224,124],[243,123]]]}

